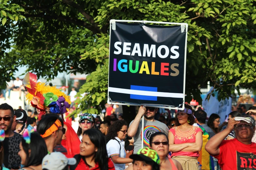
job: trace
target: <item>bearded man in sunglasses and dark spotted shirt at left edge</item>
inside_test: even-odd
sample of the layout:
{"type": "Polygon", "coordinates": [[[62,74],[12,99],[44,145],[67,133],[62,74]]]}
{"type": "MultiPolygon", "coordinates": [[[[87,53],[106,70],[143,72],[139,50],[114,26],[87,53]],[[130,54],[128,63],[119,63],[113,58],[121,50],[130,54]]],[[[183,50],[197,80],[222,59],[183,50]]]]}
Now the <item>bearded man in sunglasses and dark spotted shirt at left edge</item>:
{"type": "MultiPolygon", "coordinates": [[[[4,165],[6,168],[11,169],[16,165],[20,166],[21,158],[18,155],[19,144],[22,135],[11,130],[12,123],[15,122],[16,116],[14,115],[13,108],[4,103],[0,105],[0,129],[5,131],[4,144],[4,165]]],[[[2,166],[2,165],[1,165],[2,166]]]]}

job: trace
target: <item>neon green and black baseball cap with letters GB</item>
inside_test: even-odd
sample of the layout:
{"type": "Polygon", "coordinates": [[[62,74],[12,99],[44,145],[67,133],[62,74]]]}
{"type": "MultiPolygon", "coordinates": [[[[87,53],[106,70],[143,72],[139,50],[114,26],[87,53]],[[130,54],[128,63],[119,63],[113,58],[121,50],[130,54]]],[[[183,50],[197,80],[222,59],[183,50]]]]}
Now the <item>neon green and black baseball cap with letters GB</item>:
{"type": "Polygon", "coordinates": [[[129,156],[129,158],[135,161],[146,161],[146,162],[154,162],[159,165],[160,157],[157,152],[153,149],[149,149],[148,147],[144,147],[140,149],[137,154],[133,154],[129,156]]]}

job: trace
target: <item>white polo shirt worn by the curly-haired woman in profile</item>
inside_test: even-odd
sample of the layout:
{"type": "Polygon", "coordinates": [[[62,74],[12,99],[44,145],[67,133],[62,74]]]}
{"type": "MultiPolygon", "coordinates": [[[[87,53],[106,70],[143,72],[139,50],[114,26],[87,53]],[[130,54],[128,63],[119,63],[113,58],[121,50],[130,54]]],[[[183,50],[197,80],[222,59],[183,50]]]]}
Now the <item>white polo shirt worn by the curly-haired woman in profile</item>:
{"type": "MultiPolygon", "coordinates": [[[[118,141],[119,144],[121,145],[121,150],[120,150],[120,145],[118,142],[114,139],[111,139],[107,143],[107,152],[108,152],[108,157],[116,156],[118,155],[120,158],[125,158],[126,157],[126,151],[125,151],[125,142],[120,140],[118,137],[115,137],[118,141]]],[[[125,169],[125,163],[123,164],[116,164],[115,165],[115,170],[124,170],[125,169]]]]}

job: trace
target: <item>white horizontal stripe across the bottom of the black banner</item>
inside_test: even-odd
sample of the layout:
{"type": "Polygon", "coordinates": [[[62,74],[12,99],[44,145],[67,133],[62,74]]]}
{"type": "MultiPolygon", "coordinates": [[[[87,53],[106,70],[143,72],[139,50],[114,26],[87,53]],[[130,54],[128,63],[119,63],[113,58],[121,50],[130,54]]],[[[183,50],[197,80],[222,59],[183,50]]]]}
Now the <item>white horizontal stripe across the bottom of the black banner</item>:
{"type": "Polygon", "coordinates": [[[149,92],[145,90],[121,89],[121,88],[114,88],[114,87],[109,87],[108,91],[116,92],[116,93],[143,95],[143,96],[183,98],[183,93],[167,93],[167,92],[152,92],[152,91],[149,92]]]}

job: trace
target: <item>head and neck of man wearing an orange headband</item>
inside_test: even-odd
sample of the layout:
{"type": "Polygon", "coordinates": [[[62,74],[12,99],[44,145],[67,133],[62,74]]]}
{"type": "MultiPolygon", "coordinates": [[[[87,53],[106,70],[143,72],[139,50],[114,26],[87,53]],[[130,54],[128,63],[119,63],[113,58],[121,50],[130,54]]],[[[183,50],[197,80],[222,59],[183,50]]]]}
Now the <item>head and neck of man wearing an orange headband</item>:
{"type": "MultiPolygon", "coordinates": [[[[62,136],[65,134],[63,120],[57,114],[45,114],[38,122],[37,132],[43,137],[48,152],[51,153],[57,144],[61,143],[62,136]]],[[[63,151],[63,153],[65,152],[63,151]]]]}

